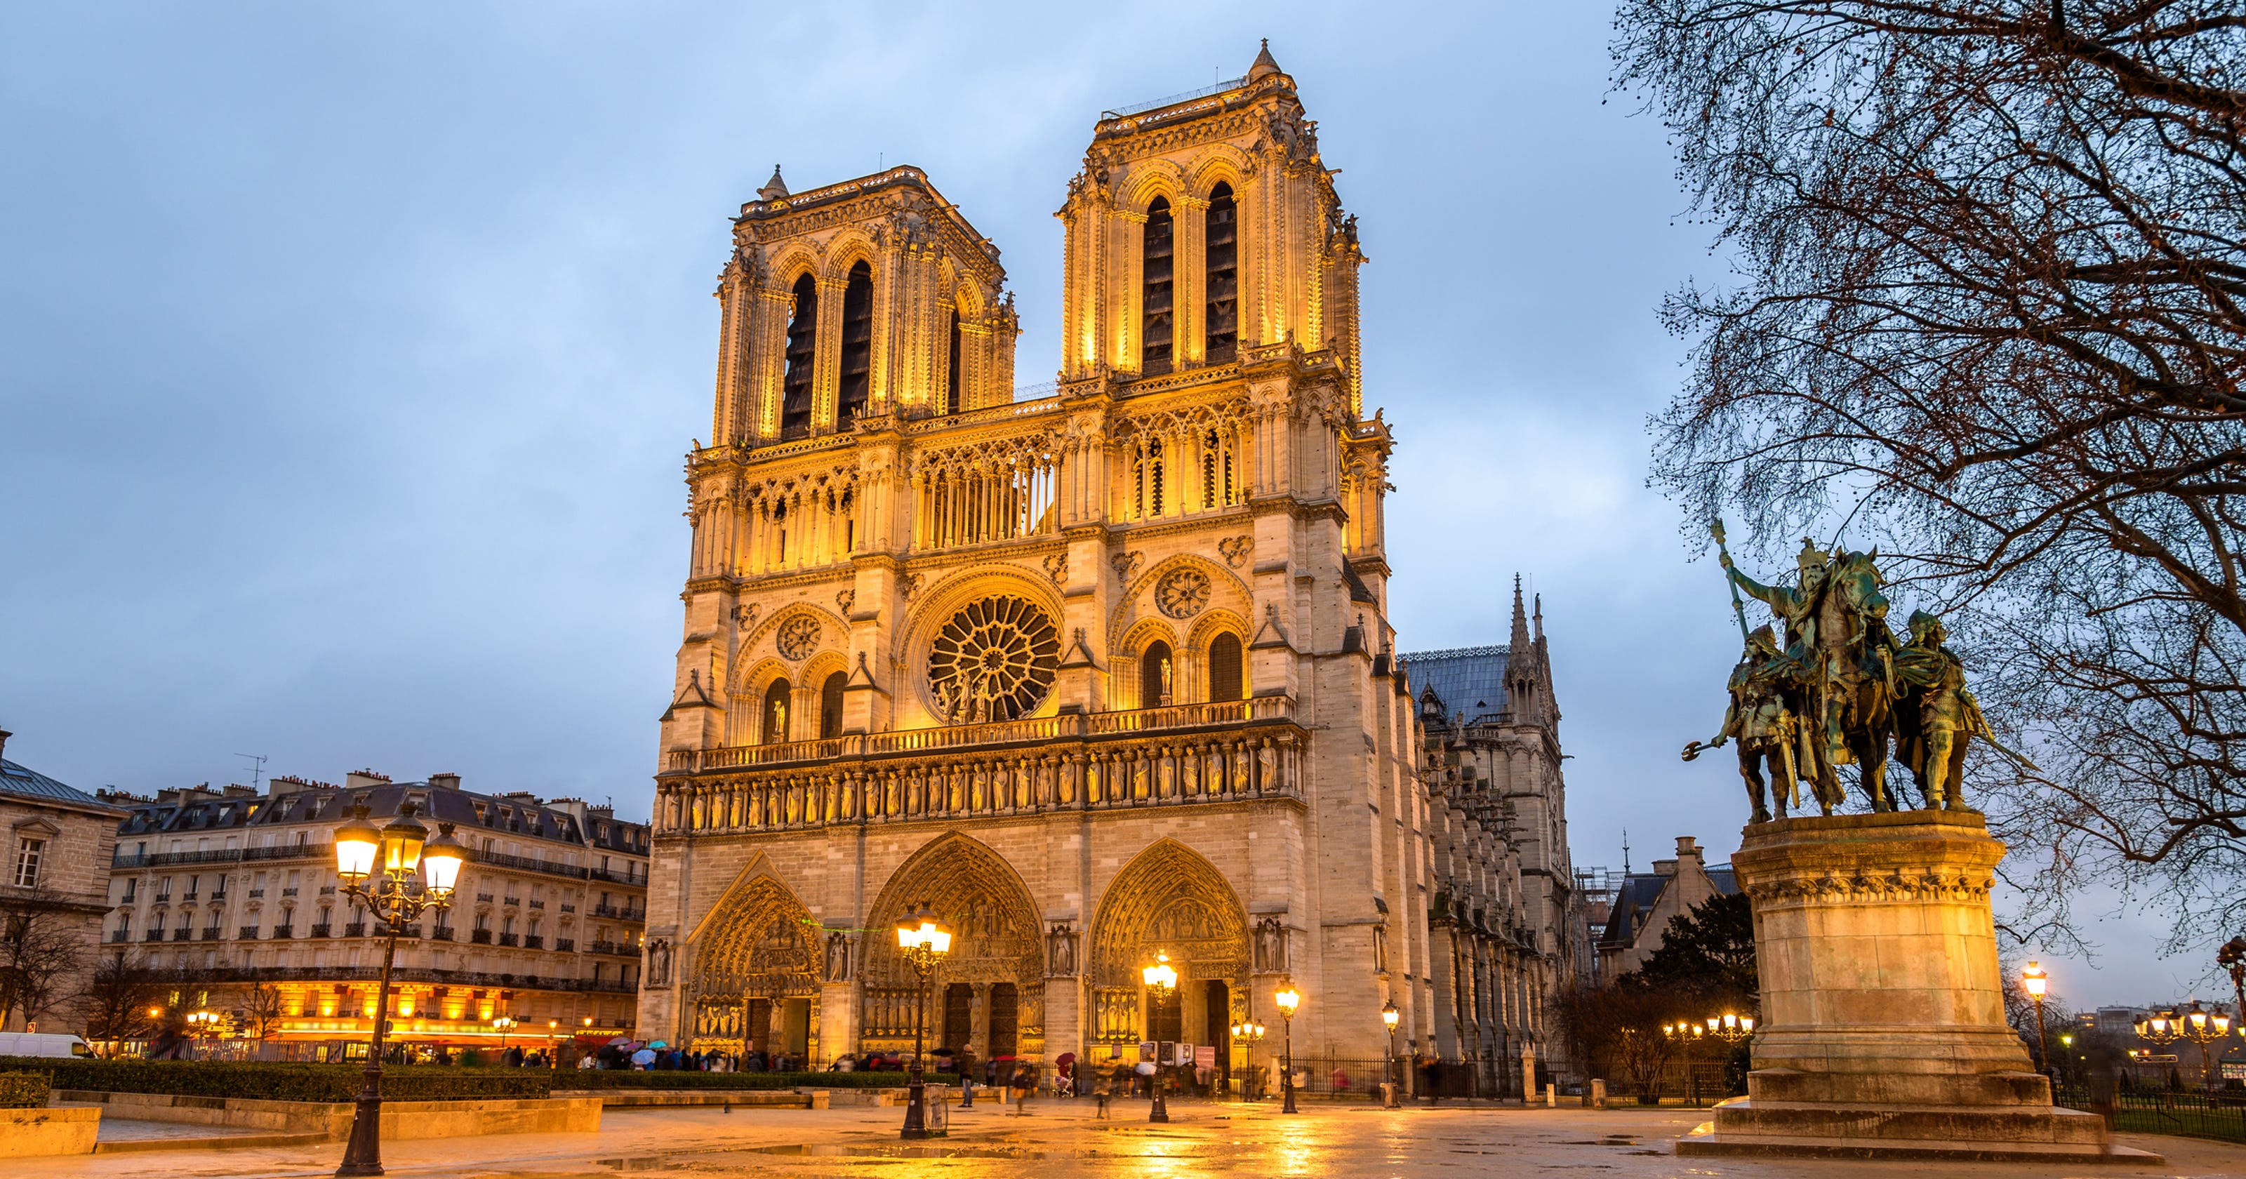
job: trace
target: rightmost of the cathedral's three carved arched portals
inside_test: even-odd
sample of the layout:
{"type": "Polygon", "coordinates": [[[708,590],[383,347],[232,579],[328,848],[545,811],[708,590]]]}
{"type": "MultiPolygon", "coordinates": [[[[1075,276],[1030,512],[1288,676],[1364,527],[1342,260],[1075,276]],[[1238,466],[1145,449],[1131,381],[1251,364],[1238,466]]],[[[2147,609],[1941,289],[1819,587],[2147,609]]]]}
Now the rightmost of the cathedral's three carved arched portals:
{"type": "Polygon", "coordinates": [[[1177,840],[1159,840],[1123,865],[1101,896],[1087,966],[1092,1042],[1199,1042],[1193,1033],[1229,1029],[1240,1017],[1233,999],[1247,993],[1249,981],[1247,910],[1202,853],[1177,840]],[[1141,979],[1154,954],[1170,954],[1179,979],[1161,1006],[1154,1006],[1141,979]]]}

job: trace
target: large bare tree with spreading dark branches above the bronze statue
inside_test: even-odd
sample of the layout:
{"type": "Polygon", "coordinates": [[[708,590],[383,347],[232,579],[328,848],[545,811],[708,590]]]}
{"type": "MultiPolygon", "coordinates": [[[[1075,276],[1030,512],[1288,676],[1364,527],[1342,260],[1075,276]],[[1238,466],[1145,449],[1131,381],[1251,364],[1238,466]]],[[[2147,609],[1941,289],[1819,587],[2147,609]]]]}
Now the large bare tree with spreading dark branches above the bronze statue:
{"type": "Polygon", "coordinates": [[[1664,305],[1655,483],[1952,613],[2044,936],[2089,878],[2237,923],[2246,9],[1624,0],[1615,63],[1738,276],[1664,305]]]}

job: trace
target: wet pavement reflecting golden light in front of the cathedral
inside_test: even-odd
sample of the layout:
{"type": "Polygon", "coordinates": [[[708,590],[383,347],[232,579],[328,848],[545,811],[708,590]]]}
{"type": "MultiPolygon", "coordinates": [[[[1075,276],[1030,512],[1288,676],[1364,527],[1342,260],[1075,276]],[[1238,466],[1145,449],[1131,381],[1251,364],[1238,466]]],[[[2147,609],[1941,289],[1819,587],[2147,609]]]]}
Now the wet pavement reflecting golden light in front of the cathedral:
{"type": "MultiPolygon", "coordinates": [[[[1119,1103],[1112,1121],[1092,1103],[1038,1100],[1029,1116],[977,1103],[952,1112],[952,1134],[896,1139],[903,1109],[609,1109],[600,1134],[505,1134],[384,1143],[391,1175],[467,1179],[705,1179],[705,1177],[1303,1177],[1415,1179],[1536,1175],[1586,1179],[1855,1179],[1956,1175],[2073,1179],[2154,1175],[2246,1179],[2246,1148],[2192,1139],[2134,1139],[2167,1154],[2163,1168],[2057,1163],[1837,1163],[1783,1159],[1676,1159],[1669,1143],[1707,1118],[1693,1109],[1395,1109],[1170,1103],[1168,1125],[1145,1123],[1145,1103],[1119,1103]]],[[[126,1157],[22,1159],[11,1179],[168,1179],[328,1175],[341,1145],[193,1150],[126,1157]]]]}

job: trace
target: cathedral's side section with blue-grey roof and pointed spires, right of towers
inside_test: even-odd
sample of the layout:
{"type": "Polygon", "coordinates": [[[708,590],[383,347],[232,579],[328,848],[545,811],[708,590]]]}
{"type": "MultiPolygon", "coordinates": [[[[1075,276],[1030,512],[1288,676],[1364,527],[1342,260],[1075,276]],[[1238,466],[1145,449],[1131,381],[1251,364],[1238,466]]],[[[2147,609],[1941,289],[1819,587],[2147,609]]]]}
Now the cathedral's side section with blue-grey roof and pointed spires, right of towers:
{"type": "Polygon", "coordinates": [[[1397,662],[1431,755],[1435,1051],[1509,1091],[1523,1051],[1565,1067],[1550,999],[1592,970],[1543,609],[1532,615],[1516,582],[1509,645],[1397,662]]]}

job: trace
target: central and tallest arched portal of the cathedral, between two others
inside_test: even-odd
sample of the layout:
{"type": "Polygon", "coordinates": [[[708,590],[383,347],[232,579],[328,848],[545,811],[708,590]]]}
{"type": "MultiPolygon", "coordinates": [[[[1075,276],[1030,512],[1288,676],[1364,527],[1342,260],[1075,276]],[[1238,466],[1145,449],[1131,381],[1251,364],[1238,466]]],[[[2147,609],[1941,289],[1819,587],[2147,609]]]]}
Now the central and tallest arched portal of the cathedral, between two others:
{"type": "MultiPolygon", "coordinates": [[[[952,927],[952,952],[930,979],[928,1047],[988,1060],[999,1035],[1011,1051],[1044,1051],[1044,959],[1029,887],[988,844],[939,835],[883,885],[867,918],[889,930],[928,905],[952,927]]],[[[919,988],[894,936],[869,936],[860,972],[860,1051],[910,1051],[919,988]]]]}

